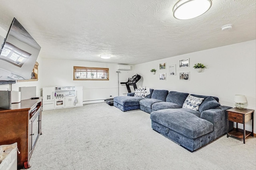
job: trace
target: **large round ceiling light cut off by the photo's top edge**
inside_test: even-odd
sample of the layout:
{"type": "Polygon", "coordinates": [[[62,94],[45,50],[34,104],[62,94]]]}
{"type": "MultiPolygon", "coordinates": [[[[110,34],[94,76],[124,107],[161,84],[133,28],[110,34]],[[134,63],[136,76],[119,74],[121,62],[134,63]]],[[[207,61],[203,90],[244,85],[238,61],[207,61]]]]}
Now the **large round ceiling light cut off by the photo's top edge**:
{"type": "Polygon", "coordinates": [[[179,20],[196,18],[207,12],[212,0],[180,0],[173,7],[173,16],[179,20]]]}

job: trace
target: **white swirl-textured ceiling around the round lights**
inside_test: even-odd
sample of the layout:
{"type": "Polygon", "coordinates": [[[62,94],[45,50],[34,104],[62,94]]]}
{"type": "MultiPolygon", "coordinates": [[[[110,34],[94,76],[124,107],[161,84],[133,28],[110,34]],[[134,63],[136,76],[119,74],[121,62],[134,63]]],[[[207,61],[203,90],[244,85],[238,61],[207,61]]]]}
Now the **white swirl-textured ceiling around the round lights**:
{"type": "Polygon", "coordinates": [[[15,17],[40,57],[140,64],[256,39],[256,0],[212,0],[208,12],[177,20],[178,0],[0,0],[0,27],[15,17]],[[221,31],[226,24],[233,28],[221,31]],[[111,59],[101,59],[110,54],[111,59]]]}

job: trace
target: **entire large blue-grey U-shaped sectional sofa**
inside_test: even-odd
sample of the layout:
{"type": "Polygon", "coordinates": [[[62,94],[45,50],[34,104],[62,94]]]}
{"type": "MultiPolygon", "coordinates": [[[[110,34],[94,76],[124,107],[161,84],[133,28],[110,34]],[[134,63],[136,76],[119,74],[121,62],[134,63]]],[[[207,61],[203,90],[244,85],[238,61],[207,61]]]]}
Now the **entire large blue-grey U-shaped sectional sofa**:
{"type": "Polygon", "coordinates": [[[214,96],[191,94],[202,103],[196,106],[197,110],[188,109],[184,106],[185,101],[189,102],[188,96],[188,93],[150,89],[145,98],[135,97],[134,93],[115,97],[114,106],[122,111],[141,109],[150,113],[153,130],[193,152],[226,133],[226,110],[231,107],[220,106],[214,96]]]}

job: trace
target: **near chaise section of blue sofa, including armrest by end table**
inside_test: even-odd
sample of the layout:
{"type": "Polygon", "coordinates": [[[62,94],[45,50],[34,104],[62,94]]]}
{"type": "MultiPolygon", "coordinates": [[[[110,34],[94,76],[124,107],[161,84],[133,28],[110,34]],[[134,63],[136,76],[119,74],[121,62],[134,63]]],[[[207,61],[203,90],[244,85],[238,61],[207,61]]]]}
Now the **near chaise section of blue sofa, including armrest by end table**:
{"type": "Polygon", "coordinates": [[[193,152],[226,133],[226,110],[230,108],[220,106],[201,114],[184,108],[153,111],[151,127],[193,152]]]}

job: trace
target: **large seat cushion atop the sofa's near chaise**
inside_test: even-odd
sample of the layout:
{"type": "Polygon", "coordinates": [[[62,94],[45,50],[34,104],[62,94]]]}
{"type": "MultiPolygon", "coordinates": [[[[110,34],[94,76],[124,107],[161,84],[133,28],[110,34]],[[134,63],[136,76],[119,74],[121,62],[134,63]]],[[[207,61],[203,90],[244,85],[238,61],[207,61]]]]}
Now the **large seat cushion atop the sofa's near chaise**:
{"type": "Polygon", "coordinates": [[[201,119],[182,109],[153,111],[150,114],[150,119],[191,139],[196,139],[213,131],[213,124],[210,121],[201,119]]]}

